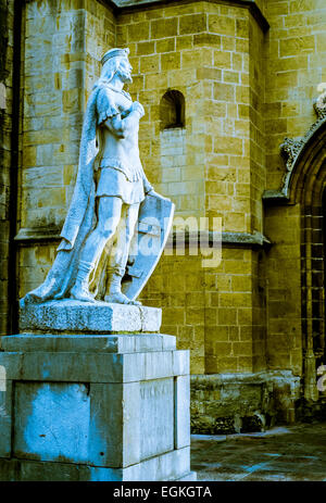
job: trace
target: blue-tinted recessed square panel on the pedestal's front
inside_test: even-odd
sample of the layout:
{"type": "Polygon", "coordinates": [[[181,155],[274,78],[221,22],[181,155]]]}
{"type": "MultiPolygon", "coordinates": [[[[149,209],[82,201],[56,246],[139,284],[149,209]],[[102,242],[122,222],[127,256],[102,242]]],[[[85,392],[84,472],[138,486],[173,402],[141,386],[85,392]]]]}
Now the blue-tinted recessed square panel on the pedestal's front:
{"type": "Polygon", "coordinates": [[[83,383],[15,385],[14,457],[86,463],[90,397],[83,383]]]}

